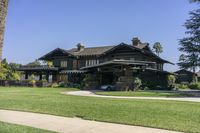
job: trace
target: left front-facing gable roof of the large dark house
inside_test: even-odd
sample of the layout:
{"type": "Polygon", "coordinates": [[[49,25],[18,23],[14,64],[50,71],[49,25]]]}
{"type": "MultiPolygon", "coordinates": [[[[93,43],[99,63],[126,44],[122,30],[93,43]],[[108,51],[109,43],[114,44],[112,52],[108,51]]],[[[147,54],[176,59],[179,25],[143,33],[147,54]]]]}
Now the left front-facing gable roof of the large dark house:
{"type": "Polygon", "coordinates": [[[71,53],[69,53],[67,50],[61,49],[61,48],[56,48],[52,50],[51,52],[47,53],[46,55],[42,56],[39,58],[39,60],[51,60],[53,56],[72,56],[71,53]]]}

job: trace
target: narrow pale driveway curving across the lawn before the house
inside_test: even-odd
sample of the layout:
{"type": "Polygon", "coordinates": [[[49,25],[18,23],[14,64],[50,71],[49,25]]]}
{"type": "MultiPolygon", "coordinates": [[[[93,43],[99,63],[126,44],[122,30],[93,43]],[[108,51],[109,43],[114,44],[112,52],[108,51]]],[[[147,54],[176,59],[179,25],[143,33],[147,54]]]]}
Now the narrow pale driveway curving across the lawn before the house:
{"type": "Polygon", "coordinates": [[[174,101],[189,101],[200,102],[200,98],[197,97],[181,97],[181,98],[167,98],[167,97],[126,97],[126,96],[104,96],[97,95],[95,91],[69,91],[62,92],[62,94],[76,95],[76,96],[90,96],[90,97],[102,97],[102,98],[120,98],[120,99],[150,99],[150,100],[174,100],[174,101]]]}

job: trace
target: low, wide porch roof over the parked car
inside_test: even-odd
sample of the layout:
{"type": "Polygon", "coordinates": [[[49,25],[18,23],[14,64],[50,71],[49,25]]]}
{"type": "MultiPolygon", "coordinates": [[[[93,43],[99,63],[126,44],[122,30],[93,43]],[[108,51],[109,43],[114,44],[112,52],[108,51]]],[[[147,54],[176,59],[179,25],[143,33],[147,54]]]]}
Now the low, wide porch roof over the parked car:
{"type": "Polygon", "coordinates": [[[133,60],[111,60],[107,62],[103,62],[100,64],[92,65],[92,66],[87,66],[87,67],[82,67],[80,68],[81,70],[87,70],[90,68],[97,68],[97,67],[102,67],[106,65],[138,65],[138,66],[147,66],[147,64],[155,64],[155,62],[148,62],[148,61],[133,61],[133,60]]]}

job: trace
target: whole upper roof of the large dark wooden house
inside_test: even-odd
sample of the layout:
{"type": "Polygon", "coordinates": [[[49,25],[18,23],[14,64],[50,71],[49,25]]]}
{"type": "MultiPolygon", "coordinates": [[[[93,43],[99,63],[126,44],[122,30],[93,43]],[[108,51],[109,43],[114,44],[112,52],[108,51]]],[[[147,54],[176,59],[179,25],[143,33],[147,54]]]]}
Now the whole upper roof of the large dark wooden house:
{"type": "Polygon", "coordinates": [[[53,58],[53,56],[71,56],[71,57],[77,57],[77,56],[102,56],[105,55],[115,49],[117,49],[118,47],[121,46],[126,46],[129,47],[130,49],[134,49],[137,50],[143,54],[146,54],[148,56],[152,56],[164,63],[170,63],[173,64],[167,60],[164,60],[162,58],[160,58],[159,56],[157,56],[156,54],[154,54],[151,49],[149,48],[149,44],[148,43],[141,43],[137,46],[133,46],[133,45],[129,45],[129,44],[125,44],[125,43],[120,43],[119,45],[112,45],[112,46],[101,46],[101,47],[87,47],[84,48],[80,51],[78,51],[77,48],[72,48],[70,50],[64,50],[61,48],[57,48],[51,52],[49,52],[48,54],[42,56],[41,58],[39,58],[39,60],[51,60],[53,58]]]}

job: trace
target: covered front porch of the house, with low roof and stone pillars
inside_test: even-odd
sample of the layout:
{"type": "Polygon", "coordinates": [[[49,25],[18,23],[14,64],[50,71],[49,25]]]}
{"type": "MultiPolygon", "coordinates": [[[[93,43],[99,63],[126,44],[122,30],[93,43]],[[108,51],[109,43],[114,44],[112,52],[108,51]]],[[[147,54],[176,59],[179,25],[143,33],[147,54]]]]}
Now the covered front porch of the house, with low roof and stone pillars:
{"type": "Polygon", "coordinates": [[[166,85],[167,75],[170,73],[150,66],[156,66],[155,62],[112,60],[81,69],[89,71],[96,86],[114,85],[116,90],[131,88],[134,77],[139,77],[144,83],[166,85]]]}

